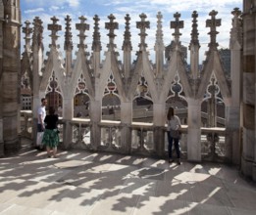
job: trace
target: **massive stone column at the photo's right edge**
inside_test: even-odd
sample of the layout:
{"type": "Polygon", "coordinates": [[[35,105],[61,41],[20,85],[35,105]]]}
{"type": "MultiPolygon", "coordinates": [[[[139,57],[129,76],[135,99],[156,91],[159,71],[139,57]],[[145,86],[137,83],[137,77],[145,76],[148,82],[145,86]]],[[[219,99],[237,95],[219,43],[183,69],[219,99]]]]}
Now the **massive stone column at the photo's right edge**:
{"type": "Polygon", "coordinates": [[[241,172],[256,180],[255,62],[256,0],[243,1],[243,146],[241,172]]]}

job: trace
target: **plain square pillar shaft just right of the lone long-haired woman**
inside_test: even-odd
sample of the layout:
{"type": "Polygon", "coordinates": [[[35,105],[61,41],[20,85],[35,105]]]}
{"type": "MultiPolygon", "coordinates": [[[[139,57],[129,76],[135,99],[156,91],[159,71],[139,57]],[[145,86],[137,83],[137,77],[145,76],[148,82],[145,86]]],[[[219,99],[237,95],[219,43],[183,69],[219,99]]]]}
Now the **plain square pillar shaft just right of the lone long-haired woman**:
{"type": "Polygon", "coordinates": [[[187,160],[201,161],[201,101],[187,99],[187,160]]]}

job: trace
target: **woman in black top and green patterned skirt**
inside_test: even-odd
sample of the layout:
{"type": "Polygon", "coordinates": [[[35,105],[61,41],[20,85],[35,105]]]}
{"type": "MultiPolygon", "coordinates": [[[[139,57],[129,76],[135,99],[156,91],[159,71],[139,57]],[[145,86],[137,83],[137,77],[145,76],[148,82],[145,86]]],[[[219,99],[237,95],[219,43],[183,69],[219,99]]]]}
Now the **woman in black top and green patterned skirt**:
{"type": "Polygon", "coordinates": [[[59,132],[57,129],[57,122],[59,116],[55,114],[53,107],[49,108],[49,114],[46,115],[44,122],[46,124],[42,144],[46,146],[48,157],[56,157],[57,146],[59,144],[59,132]],[[51,153],[52,152],[52,153],[51,153]]]}

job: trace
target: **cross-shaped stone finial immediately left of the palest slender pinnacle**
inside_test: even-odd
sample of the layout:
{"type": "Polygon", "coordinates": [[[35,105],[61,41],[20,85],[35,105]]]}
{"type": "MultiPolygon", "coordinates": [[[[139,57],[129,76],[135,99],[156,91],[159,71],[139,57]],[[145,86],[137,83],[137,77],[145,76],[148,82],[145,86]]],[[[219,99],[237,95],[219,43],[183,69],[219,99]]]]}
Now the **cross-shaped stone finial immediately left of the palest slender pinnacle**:
{"type": "Polygon", "coordinates": [[[145,43],[146,39],[146,28],[150,28],[150,22],[145,21],[147,16],[145,14],[139,15],[141,21],[136,21],[136,27],[140,29],[140,33],[138,34],[140,36],[140,44],[138,45],[139,51],[145,51],[147,44],[145,43]]]}

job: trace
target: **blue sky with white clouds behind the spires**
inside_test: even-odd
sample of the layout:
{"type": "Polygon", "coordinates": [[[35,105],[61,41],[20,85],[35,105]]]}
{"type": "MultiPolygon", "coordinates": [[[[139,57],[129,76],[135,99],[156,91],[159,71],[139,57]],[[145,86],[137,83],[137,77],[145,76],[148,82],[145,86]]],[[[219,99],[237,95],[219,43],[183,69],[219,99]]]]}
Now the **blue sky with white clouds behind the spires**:
{"type": "MultiPolygon", "coordinates": [[[[50,18],[55,16],[62,24],[62,31],[59,32],[58,44],[61,45],[60,50],[63,51],[63,34],[65,29],[65,17],[70,15],[73,30],[74,50],[77,49],[77,30],[75,24],[79,16],[84,16],[87,23],[90,24],[89,31],[86,32],[87,38],[85,42],[88,45],[87,51],[91,52],[91,37],[93,33],[93,17],[98,15],[100,18],[100,33],[102,41],[102,51],[107,50],[108,31],[105,29],[105,22],[108,22],[108,16],[113,14],[116,21],[119,22],[119,29],[115,31],[117,37],[115,42],[117,44],[117,51],[122,53],[122,45],[125,31],[125,17],[129,14],[130,32],[132,42],[132,53],[138,50],[140,39],[138,37],[138,29],[136,28],[136,21],[140,21],[139,15],[144,13],[147,16],[147,21],[150,21],[150,29],[146,30],[148,36],[146,43],[148,44],[148,51],[152,57],[154,54],[155,35],[156,35],[156,15],[161,12],[163,15],[162,25],[164,31],[164,43],[169,45],[173,40],[172,33],[174,29],[170,29],[170,21],[174,21],[174,14],[179,12],[181,14],[180,20],[184,21],[184,28],[180,29],[181,44],[188,46],[190,42],[191,33],[191,14],[193,11],[198,13],[198,31],[200,49],[200,61],[204,60],[204,53],[208,49],[209,43],[209,27],[205,27],[205,21],[210,19],[209,13],[212,10],[218,11],[217,19],[222,19],[222,26],[217,30],[220,32],[217,35],[217,41],[220,48],[229,48],[230,43],[230,25],[232,15],[230,14],[233,8],[242,10],[242,0],[22,0],[22,21],[32,22],[34,17],[40,17],[44,25],[44,47],[48,47],[50,38],[50,31],[47,29],[47,24],[51,23],[50,18]]],[[[24,37],[24,35],[23,35],[24,37]]],[[[120,59],[122,61],[122,59],[120,59]]],[[[153,60],[153,59],[152,59],[153,60]]],[[[154,60],[153,60],[154,61],[154,60]]]]}

